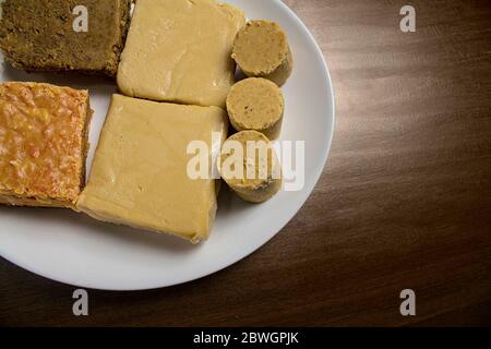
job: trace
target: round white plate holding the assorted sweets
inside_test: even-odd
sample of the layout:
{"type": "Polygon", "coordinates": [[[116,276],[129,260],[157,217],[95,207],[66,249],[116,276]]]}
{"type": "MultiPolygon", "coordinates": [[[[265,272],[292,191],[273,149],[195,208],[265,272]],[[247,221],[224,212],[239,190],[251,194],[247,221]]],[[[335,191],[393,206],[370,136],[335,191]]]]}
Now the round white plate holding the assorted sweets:
{"type": "MultiPolygon", "coordinates": [[[[230,0],[248,19],[278,22],[287,32],[295,71],[283,87],[286,115],[282,140],[306,141],[306,185],[280,192],[262,205],[241,202],[228,190],[211,239],[200,245],[98,222],[68,209],[0,207],[0,254],[47,278],[85,288],[141,290],[187,282],[220,270],[258,250],[299,210],[324,168],[334,129],[333,88],[322,52],[302,22],[279,0],[230,0]]],[[[37,81],[88,88],[95,110],[93,152],[115,86],[92,77],[26,74],[8,63],[2,81],[37,81]]]]}

